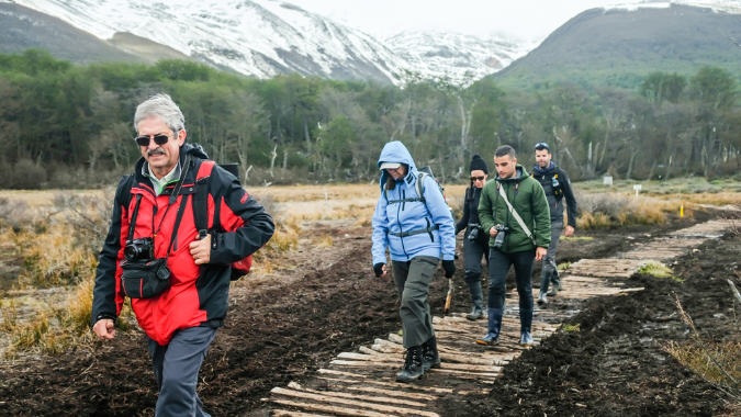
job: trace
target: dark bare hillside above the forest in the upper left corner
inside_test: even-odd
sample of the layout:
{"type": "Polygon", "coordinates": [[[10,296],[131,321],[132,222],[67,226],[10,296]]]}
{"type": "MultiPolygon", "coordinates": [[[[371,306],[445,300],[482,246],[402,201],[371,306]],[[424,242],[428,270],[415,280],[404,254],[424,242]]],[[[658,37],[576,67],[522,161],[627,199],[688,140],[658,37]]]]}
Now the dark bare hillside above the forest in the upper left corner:
{"type": "Polygon", "coordinates": [[[35,47],[59,59],[77,64],[100,61],[146,63],[114,45],[80,31],[57,18],[0,2],[0,53],[12,54],[35,47]]]}

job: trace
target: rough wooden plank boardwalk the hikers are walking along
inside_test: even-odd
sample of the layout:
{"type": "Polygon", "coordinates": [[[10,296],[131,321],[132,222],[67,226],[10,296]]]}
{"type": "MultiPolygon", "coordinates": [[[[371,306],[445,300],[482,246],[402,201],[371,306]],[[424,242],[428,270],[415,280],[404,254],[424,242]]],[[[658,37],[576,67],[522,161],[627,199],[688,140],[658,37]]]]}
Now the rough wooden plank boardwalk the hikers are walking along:
{"type": "MultiPolygon", "coordinates": [[[[705,240],[719,237],[729,227],[726,221],[712,221],[636,245],[635,250],[616,258],[583,259],[562,272],[563,290],[558,297],[586,300],[641,291],[642,288],[627,288],[621,280],[630,278],[649,260],[665,262],[683,256],[705,240]]],[[[534,291],[534,297],[538,296],[537,292],[534,291]]],[[[514,295],[516,297],[516,293],[514,295]]],[[[536,346],[558,331],[560,324],[575,313],[536,306],[532,323],[536,346]]],[[[495,347],[475,345],[475,338],[486,333],[485,319],[470,322],[463,316],[434,318],[442,364],[426,373],[424,381],[395,382],[396,372],[404,363],[404,348],[402,337],[390,334],[360,347],[357,352],[339,353],[304,386],[292,382],[285,387],[274,387],[263,401],[270,404],[273,416],[437,417],[434,410],[438,398],[487,393],[503,368],[528,349],[518,345],[516,306],[505,311],[502,341],[495,347]]]]}

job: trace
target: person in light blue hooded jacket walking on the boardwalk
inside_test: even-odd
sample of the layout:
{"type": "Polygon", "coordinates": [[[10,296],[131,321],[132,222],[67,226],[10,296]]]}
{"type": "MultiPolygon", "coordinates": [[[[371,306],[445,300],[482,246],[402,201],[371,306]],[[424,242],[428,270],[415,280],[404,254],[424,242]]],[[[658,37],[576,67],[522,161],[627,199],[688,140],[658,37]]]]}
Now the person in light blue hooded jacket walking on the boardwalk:
{"type": "Polygon", "coordinates": [[[381,195],[373,214],[373,272],[386,277],[386,248],[401,300],[406,360],[396,381],[412,382],[440,367],[427,293],[442,259],[447,278],[456,272],[456,226],[435,179],[420,177],[401,142],[379,158],[381,195]],[[423,195],[417,192],[422,178],[423,195]]]}

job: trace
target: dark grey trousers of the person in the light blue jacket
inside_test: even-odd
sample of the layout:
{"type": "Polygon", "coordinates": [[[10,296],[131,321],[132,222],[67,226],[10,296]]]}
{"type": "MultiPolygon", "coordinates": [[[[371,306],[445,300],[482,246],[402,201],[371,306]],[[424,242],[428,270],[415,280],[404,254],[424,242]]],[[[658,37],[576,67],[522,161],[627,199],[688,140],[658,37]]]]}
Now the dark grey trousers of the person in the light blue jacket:
{"type": "Polygon", "coordinates": [[[408,262],[392,262],[406,349],[422,346],[435,336],[427,295],[438,261],[435,257],[415,257],[408,262]]]}

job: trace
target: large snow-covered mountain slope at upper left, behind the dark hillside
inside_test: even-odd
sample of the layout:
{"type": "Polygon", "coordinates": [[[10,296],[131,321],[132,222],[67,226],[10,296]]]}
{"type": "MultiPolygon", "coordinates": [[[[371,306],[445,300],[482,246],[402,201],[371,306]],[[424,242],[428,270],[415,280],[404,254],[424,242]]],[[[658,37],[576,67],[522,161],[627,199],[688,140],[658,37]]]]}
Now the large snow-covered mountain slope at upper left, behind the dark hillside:
{"type": "Polygon", "coordinates": [[[396,82],[404,59],[372,36],[279,0],[0,0],[109,40],[130,32],[259,78],[299,71],[396,82]]]}

